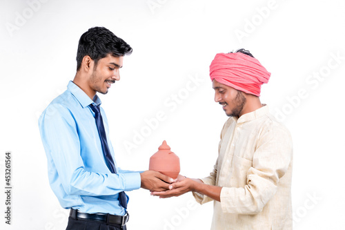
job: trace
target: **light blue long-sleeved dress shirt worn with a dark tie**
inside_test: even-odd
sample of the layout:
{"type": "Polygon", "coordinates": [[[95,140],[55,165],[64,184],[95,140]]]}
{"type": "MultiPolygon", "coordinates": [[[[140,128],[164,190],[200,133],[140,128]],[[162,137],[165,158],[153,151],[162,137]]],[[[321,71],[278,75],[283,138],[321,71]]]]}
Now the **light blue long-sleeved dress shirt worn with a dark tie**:
{"type": "MultiPolygon", "coordinates": [[[[139,189],[140,174],[118,169],[116,162],[118,173],[110,173],[90,104],[101,104],[101,100],[95,95],[92,101],[81,88],[69,82],[67,90],[39,117],[50,186],[65,209],[124,215],[126,210],[119,205],[118,193],[139,189]]],[[[101,115],[114,156],[103,108],[101,115]]]]}

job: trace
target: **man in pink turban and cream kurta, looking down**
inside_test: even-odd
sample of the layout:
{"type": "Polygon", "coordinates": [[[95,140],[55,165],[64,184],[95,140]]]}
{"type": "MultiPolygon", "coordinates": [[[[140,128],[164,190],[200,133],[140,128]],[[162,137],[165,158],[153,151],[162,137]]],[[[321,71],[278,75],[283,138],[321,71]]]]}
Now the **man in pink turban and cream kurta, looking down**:
{"type": "Polygon", "coordinates": [[[260,102],[270,73],[248,50],[219,53],[210,65],[215,102],[230,117],[208,178],[179,175],[161,198],[192,191],[200,204],[214,201],[212,230],[292,229],[290,133],[260,102]]]}

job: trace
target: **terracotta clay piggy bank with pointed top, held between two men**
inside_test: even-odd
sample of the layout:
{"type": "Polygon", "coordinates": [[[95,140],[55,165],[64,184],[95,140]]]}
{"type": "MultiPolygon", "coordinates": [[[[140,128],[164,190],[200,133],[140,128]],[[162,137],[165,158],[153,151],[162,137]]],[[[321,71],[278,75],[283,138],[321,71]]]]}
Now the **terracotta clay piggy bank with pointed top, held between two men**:
{"type": "Polygon", "coordinates": [[[166,141],[158,148],[158,152],[150,157],[149,170],[159,171],[164,175],[168,175],[172,179],[176,179],[179,175],[179,157],[170,151],[170,147],[166,141]]]}

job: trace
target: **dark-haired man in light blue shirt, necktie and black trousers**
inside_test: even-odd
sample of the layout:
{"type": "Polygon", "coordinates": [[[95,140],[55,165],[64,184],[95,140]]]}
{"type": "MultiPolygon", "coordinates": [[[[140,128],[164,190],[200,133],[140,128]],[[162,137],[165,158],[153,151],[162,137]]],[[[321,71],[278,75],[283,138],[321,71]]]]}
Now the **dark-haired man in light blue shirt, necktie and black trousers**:
{"type": "MultiPolygon", "coordinates": [[[[140,187],[166,191],[173,182],[155,171],[121,170],[102,150],[102,135],[92,110],[101,104],[96,93],[108,93],[119,81],[124,55],[131,52],[132,48],[110,30],[90,28],[79,40],[75,78],[39,117],[50,186],[61,206],[71,210],[67,229],[126,229],[128,196],[124,191],[140,187]],[[110,164],[115,165],[116,173],[110,164]]],[[[110,158],[114,158],[103,108],[100,113],[103,136],[110,158]]]]}

